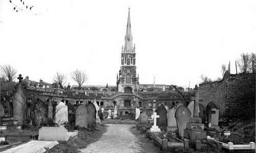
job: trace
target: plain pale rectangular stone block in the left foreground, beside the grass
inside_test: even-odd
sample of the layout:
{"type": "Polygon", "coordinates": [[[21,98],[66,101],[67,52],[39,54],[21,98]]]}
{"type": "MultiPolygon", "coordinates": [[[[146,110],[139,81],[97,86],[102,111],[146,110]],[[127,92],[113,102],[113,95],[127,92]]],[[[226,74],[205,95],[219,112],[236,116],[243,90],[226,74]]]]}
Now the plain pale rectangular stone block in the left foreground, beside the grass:
{"type": "Polygon", "coordinates": [[[68,141],[68,130],[64,126],[42,126],[39,129],[38,140],[68,141]]]}

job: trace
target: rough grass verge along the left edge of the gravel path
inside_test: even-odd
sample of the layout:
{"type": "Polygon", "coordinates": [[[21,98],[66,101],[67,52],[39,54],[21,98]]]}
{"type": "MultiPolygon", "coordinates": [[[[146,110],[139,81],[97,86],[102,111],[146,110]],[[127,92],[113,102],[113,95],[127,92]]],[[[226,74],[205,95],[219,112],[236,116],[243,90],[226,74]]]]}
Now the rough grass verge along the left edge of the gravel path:
{"type": "Polygon", "coordinates": [[[48,152],[52,153],[76,153],[80,152],[78,149],[86,148],[89,144],[98,141],[103,133],[106,132],[107,125],[100,124],[96,127],[90,127],[78,131],[78,139],[69,141],[67,144],[58,144],[57,146],[50,149],[48,152]]]}

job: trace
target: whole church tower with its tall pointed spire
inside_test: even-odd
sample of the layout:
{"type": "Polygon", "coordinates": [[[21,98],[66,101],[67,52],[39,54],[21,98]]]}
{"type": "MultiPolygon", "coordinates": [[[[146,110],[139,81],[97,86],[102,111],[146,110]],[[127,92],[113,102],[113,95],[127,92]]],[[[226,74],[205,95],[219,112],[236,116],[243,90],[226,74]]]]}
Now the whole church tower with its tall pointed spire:
{"type": "Polygon", "coordinates": [[[119,77],[117,75],[117,87],[120,92],[132,93],[138,89],[138,78],[136,73],[135,44],[131,29],[130,8],[128,13],[124,46],[121,52],[121,67],[119,77]]]}

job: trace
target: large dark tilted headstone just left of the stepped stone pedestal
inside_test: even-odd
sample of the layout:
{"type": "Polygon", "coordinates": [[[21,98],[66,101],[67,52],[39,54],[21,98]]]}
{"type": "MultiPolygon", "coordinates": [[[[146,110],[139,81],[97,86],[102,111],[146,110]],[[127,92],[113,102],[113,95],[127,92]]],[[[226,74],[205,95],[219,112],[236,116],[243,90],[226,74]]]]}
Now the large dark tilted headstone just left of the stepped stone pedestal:
{"type": "Polygon", "coordinates": [[[180,106],[175,112],[179,135],[181,137],[184,136],[184,129],[186,128],[186,123],[189,122],[190,116],[191,113],[185,106],[180,106]]]}

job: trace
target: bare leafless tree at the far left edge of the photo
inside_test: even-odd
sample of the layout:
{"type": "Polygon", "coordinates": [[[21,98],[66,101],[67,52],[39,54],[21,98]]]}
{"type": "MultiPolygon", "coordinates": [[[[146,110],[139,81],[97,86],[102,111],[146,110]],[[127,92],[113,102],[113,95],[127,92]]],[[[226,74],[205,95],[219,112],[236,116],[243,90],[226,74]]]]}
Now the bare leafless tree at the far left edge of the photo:
{"type": "Polygon", "coordinates": [[[5,80],[12,82],[17,75],[17,70],[11,65],[3,65],[1,66],[1,75],[5,80]]]}

